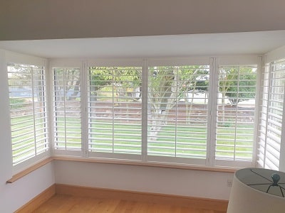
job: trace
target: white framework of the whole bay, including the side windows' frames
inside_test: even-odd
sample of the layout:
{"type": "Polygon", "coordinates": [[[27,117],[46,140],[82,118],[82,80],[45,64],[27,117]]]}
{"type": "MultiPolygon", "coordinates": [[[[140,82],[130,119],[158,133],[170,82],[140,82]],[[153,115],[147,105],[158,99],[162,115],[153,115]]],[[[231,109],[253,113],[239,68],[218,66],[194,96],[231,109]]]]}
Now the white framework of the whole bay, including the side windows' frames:
{"type": "MultiPolygon", "coordinates": [[[[285,48],[283,48],[282,50],[285,50],[285,48]]],[[[285,53],[285,52],[284,52],[285,53]]],[[[34,56],[30,56],[30,55],[24,55],[24,54],[20,54],[20,53],[13,53],[7,50],[4,50],[4,54],[3,54],[3,63],[5,65],[7,65],[7,63],[11,62],[11,63],[19,63],[19,64],[30,64],[30,65],[38,65],[38,66],[44,66],[46,67],[46,87],[47,87],[47,95],[48,95],[48,127],[50,129],[50,134],[49,134],[49,142],[50,142],[50,149],[49,151],[47,151],[46,153],[44,153],[43,155],[38,156],[37,158],[32,158],[31,160],[26,160],[24,163],[19,164],[19,166],[14,166],[13,168],[13,173],[18,173],[21,170],[24,170],[25,168],[28,168],[29,166],[35,164],[36,162],[38,162],[39,160],[43,160],[45,158],[51,157],[51,156],[57,156],[57,155],[62,155],[62,156],[73,156],[73,157],[78,157],[81,159],[85,159],[86,158],[90,158],[90,156],[88,155],[88,145],[86,145],[86,143],[83,143],[83,149],[81,152],[76,152],[76,153],[68,153],[68,152],[57,152],[54,151],[53,149],[53,125],[51,124],[52,122],[52,99],[51,99],[51,82],[52,82],[52,72],[50,67],[56,66],[56,67],[61,67],[61,66],[66,66],[66,67],[81,67],[81,75],[82,78],[87,77],[86,75],[86,69],[88,67],[88,63],[93,63],[93,64],[98,64],[98,65],[106,65],[107,63],[110,65],[125,65],[126,61],[140,61],[140,63],[142,64],[143,67],[143,72],[147,72],[147,66],[154,64],[153,62],[162,62],[163,65],[165,65],[165,62],[167,62],[169,65],[177,65],[177,63],[179,64],[179,62],[183,62],[183,61],[188,61],[188,62],[198,62],[198,61],[204,61],[204,60],[208,60],[210,63],[210,69],[212,70],[210,73],[214,73],[213,70],[218,70],[219,64],[221,65],[252,65],[252,64],[257,64],[258,65],[258,73],[261,73],[261,64],[265,64],[265,62],[274,62],[275,60],[279,60],[281,58],[285,58],[284,53],[281,53],[279,50],[278,51],[273,51],[272,53],[269,53],[268,55],[264,55],[264,56],[258,56],[258,55],[232,55],[232,56],[214,56],[214,57],[191,57],[191,58],[142,58],[142,59],[130,59],[130,60],[121,60],[121,59],[104,59],[104,60],[90,60],[90,59],[85,59],[85,60],[81,60],[81,59],[51,59],[51,60],[47,60],[47,59],[43,59],[43,58],[38,58],[38,57],[34,57],[34,56]],[[264,60],[261,63],[261,59],[264,60]]],[[[156,63],[157,64],[157,63],[156,63]]],[[[214,75],[214,74],[212,74],[214,75]]],[[[257,100],[259,100],[259,92],[260,92],[260,79],[261,74],[259,75],[259,77],[257,78],[257,100]]],[[[214,84],[215,81],[217,81],[216,79],[217,75],[214,75],[214,77],[212,77],[212,82],[209,82],[209,84],[214,84]]],[[[142,79],[145,79],[145,75],[142,75],[142,79]]],[[[147,80],[145,79],[144,82],[147,82],[147,80]]],[[[216,83],[217,84],[217,83],[216,83]]],[[[146,88],[147,85],[143,85],[144,88],[146,88]]],[[[82,89],[82,93],[84,94],[84,91],[87,91],[87,89],[85,87],[87,87],[86,85],[82,85],[83,89],[82,89]]],[[[215,87],[212,87],[212,95],[209,97],[209,99],[215,99],[216,96],[216,92],[215,87]]],[[[146,93],[144,93],[146,94],[146,93]]],[[[147,97],[144,97],[147,98],[147,97]]],[[[217,97],[216,97],[217,100],[217,97]]],[[[82,97],[82,102],[86,103],[86,96],[83,95],[82,97]]],[[[215,104],[215,101],[209,101],[212,104],[215,104]]],[[[285,99],[284,99],[284,104],[285,104],[285,99]]],[[[7,104],[8,105],[8,104],[7,104]]],[[[82,110],[85,111],[86,109],[84,108],[86,105],[83,104],[82,110]]],[[[144,109],[147,109],[147,106],[144,106],[144,109]]],[[[209,107],[211,108],[211,107],[209,107]]],[[[258,121],[258,113],[259,113],[259,104],[256,104],[256,115],[255,115],[255,121],[258,121]]],[[[85,113],[86,114],[86,113],[85,113]]],[[[145,111],[142,111],[142,114],[145,114],[145,111]]],[[[214,117],[214,112],[212,112],[211,116],[214,117]]],[[[285,110],[283,110],[283,117],[285,116],[285,110]]],[[[144,117],[146,117],[144,115],[144,117]]],[[[87,117],[83,117],[83,124],[86,124],[86,119],[87,117]]],[[[145,119],[142,119],[145,120],[145,119]]],[[[215,124],[214,119],[210,119],[209,120],[210,123],[215,124]]],[[[285,125],[285,119],[283,119],[282,121],[282,126],[285,125]]],[[[258,134],[258,126],[259,126],[259,122],[255,122],[255,127],[254,127],[254,131],[255,131],[255,136],[254,136],[254,154],[253,154],[253,161],[252,161],[252,166],[256,167],[257,165],[257,134],[258,134]]],[[[147,127],[147,122],[143,121],[143,125],[142,125],[142,131],[145,131],[147,127]]],[[[86,130],[86,127],[84,127],[86,130]]],[[[85,131],[83,129],[83,132],[85,131]]],[[[209,140],[212,141],[211,138],[214,137],[214,131],[211,129],[211,131],[209,131],[208,135],[209,135],[209,140]]],[[[145,136],[143,136],[145,137],[145,136]]],[[[144,139],[145,140],[145,139],[144,139]]],[[[281,141],[285,140],[285,134],[282,131],[282,135],[281,135],[281,141]]],[[[82,141],[88,141],[88,138],[86,138],[86,133],[83,133],[82,136],[82,141]]],[[[157,163],[159,160],[154,160],[153,162],[150,161],[150,159],[147,158],[146,155],[146,150],[147,147],[145,144],[142,144],[143,148],[142,148],[142,159],[138,160],[139,163],[157,163]]],[[[214,159],[214,144],[213,143],[208,143],[207,146],[209,146],[209,148],[207,149],[209,151],[208,156],[209,158],[207,158],[207,163],[204,165],[207,168],[240,168],[240,167],[247,167],[249,165],[247,164],[242,164],[241,162],[237,163],[237,164],[229,164],[229,162],[224,162],[224,163],[217,163],[216,160],[214,159]]],[[[285,151],[285,143],[281,143],[281,153],[284,153],[285,151]]],[[[96,158],[97,159],[97,158],[96,158]]],[[[281,155],[280,156],[280,165],[279,165],[279,170],[285,170],[285,155],[281,155]]],[[[87,159],[88,160],[88,159],[87,159]]],[[[102,158],[98,158],[98,160],[102,160],[102,158]]],[[[103,159],[105,160],[105,159],[103,159]]],[[[108,159],[106,159],[108,160],[108,159]]],[[[113,160],[113,159],[112,159],[113,160]]],[[[120,163],[122,160],[120,159],[115,159],[118,163],[120,163]]],[[[128,161],[128,160],[123,160],[123,162],[128,161]]],[[[179,162],[177,163],[178,165],[184,164],[183,162],[179,162]]],[[[163,162],[162,164],[167,164],[169,165],[169,163],[163,162]]],[[[171,165],[171,163],[170,163],[171,165]]],[[[192,166],[193,164],[187,164],[192,166]]],[[[186,165],[186,166],[187,166],[186,165]]],[[[196,165],[195,165],[196,166],[196,165]]],[[[197,165],[199,167],[203,167],[203,165],[197,165]]]]}

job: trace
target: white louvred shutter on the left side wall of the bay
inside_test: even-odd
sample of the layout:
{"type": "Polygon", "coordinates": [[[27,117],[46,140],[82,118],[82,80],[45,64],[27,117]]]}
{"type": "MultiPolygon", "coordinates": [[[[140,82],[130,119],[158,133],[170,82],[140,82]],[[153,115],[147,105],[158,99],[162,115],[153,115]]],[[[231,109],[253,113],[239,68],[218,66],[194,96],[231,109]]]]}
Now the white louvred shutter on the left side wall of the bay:
{"type": "Polygon", "coordinates": [[[14,63],[7,70],[13,165],[28,164],[48,152],[45,70],[14,63]]]}

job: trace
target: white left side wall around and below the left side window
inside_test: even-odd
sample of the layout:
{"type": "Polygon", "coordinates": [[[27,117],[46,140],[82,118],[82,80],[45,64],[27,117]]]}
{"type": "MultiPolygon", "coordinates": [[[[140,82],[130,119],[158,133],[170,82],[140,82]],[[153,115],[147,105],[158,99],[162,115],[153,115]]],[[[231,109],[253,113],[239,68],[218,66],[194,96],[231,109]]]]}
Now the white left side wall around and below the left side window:
{"type": "Polygon", "coordinates": [[[11,129],[9,93],[5,52],[0,50],[0,212],[14,212],[39,193],[54,184],[53,163],[7,184],[12,177],[11,129]]]}

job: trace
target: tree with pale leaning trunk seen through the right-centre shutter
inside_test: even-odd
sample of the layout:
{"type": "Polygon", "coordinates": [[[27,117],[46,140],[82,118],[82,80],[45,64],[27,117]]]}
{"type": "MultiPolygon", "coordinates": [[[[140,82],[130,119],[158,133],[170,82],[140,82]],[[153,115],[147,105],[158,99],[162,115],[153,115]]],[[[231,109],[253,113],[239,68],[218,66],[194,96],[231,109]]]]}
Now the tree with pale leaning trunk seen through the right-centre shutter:
{"type": "MultiPolygon", "coordinates": [[[[152,115],[152,126],[150,128],[150,141],[156,139],[157,133],[166,124],[166,117],[170,109],[180,99],[185,99],[189,90],[203,90],[207,92],[209,70],[207,66],[170,66],[150,67],[148,82],[148,98],[150,114],[152,115]]],[[[189,115],[190,116],[190,115],[189,115]]]]}

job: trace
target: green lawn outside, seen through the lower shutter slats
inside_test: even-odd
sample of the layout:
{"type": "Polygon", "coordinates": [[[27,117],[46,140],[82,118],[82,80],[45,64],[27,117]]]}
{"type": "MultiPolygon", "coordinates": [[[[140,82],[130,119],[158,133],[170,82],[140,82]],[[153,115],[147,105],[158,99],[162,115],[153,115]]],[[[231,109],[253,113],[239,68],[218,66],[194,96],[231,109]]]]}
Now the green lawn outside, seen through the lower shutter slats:
{"type": "MultiPolygon", "coordinates": [[[[33,136],[33,133],[27,134],[27,129],[21,127],[29,126],[33,121],[32,116],[16,117],[11,120],[14,135],[21,135],[13,139],[16,141],[33,136]],[[24,122],[26,121],[26,122],[24,122]],[[23,123],[21,123],[23,122],[23,123]]],[[[57,148],[81,150],[81,123],[80,119],[70,119],[68,123],[58,120],[57,148]],[[64,126],[64,125],[67,126],[64,126]],[[64,129],[67,132],[64,132],[64,129]],[[66,136],[68,138],[66,138],[66,136]]],[[[43,127],[43,120],[38,120],[38,127],[43,127]]],[[[234,129],[222,128],[217,134],[216,155],[224,157],[247,158],[252,155],[252,129],[251,126],[240,126],[234,135],[234,129]]],[[[33,129],[30,129],[33,131],[33,129]]],[[[43,133],[43,132],[42,132],[43,133]]],[[[186,158],[206,158],[207,150],[207,129],[195,126],[175,126],[165,125],[157,134],[157,138],[147,143],[147,152],[149,155],[165,155],[186,158]],[[175,134],[176,131],[176,134],[175,134]]],[[[89,147],[93,151],[107,153],[135,153],[141,154],[141,126],[140,124],[115,123],[112,124],[105,120],[95,120],[90,129],[89,147]],[[114,131],[113,131],[114,130],[114,131]]],[[[39,140],[41,138],[38,138],[39,140]]],[[[34,138],[28,139],[23,143],[13,146],[16,149],[24,143],[31,143],[28,148],[32,148],[34,138]]],[[[23,151],[23,150],[20,150],[23,151]]],[[[14,155],[19,153],[14,151],[14,155]]]]}

